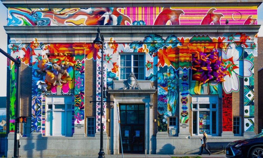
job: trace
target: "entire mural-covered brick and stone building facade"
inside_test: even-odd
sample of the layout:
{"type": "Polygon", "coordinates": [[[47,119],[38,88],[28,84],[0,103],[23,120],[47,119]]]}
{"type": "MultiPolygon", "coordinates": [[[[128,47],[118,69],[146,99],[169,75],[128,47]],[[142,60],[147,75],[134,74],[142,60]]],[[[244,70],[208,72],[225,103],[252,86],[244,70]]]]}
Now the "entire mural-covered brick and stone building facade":
{"type": "MultiPolygon", "coordinates": [[[[123,153],[198,153],[204,132],[211,142],[258,133],[262,0],[1,1],[8,53],[22,62],[22,157],[97,155],[101,123],[105,154],[121,153],[121,145],[123,153]],[[98,26],[103,55],[93,43],[98,26]]],[[[7,73],[5,154],[12,157],[10,61],[7,73]]]]}

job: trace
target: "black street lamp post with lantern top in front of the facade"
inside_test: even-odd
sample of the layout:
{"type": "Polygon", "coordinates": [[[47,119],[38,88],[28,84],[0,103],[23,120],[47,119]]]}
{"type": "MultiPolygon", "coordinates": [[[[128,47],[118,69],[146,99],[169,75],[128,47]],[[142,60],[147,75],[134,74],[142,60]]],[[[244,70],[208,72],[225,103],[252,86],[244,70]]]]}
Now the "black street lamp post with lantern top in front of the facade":
{"type": "Polygon", "coordinates": [[[101,103],[100,103],[100,150],[99,150],[99,157],[98,158],[105,158],[105,153],[103,151],[103,123],[102,123],[102,115],[103,115],[103,48],[104,48],[104,38],[103,38],[103,35],[100,34],[100,29],[98,28],[97,29],[98,33],[96,35],[96,38],[95,40],[93,41],[94,44],[96,45],[99,45],[99,48],[100,48],[100,45],[102,45],[102,53],[101,53],[101,84],[100,84],[100,95],[101,95],[101,103]]]}

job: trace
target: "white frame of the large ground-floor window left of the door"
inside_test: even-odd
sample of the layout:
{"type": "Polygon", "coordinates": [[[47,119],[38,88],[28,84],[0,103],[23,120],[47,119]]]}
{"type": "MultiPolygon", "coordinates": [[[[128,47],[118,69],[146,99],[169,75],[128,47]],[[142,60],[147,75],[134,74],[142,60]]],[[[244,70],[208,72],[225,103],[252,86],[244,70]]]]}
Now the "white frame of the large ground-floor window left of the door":
{"type": "Polygon", "coordinates": [[[67,132],[67,127],[72,128],[72,119],[67,122],[67,113],[70,112],[70,116],[72,116],[72,96],[71,95],[50,95],[46,96],[46,114],[45,114],[45,135],[46,136],[72,136],[72,132],[67,132]],[[49,105],[52,105],[52,109],[49,108],[49,105]],[[65,105],[65,108],[55,108],[55,105],[65,105]],[[70,108],[68,108],[70,107],[70,108]],[[52,112],[52,120],[49,120],[48,113],[52,112]],[[65,134],[55,134],[55,112],[64,112],[65,113],[65,134]],[[50,121],[52,121],[52,134],[49,134],[50,131],[50,121]]]}

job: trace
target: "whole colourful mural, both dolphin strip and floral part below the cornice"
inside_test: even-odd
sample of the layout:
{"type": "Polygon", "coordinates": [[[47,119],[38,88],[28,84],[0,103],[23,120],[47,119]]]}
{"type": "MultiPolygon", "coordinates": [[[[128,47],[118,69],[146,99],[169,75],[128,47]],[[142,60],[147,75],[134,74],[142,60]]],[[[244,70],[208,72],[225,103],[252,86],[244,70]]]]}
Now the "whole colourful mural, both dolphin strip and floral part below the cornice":
{"type": "MultiPolygon", "coordinates": [[[[257,7],[8,8],[8,26],[223,25],[226,19],[230,25],[257,24],[257,7]]],[[[149,34],[142,41],[118,43],[110,37],[103,55],[103,82],[105,87],[112,88],[113,80],[119,80],[121,53],[144,53],[145,79],[158,83],[158,131],[167,131],[168,118],[176,115],[179,103],[183,104],[180,122],[187,122],[189,95],[217,94],[221,99],[222,91],[226,94],[238,92],[240,81],[244,77],[247,83],[244,91],[247,114],[245,125],[248,125],[246,130],[254,130],[254,97],[251,96],[254,96],[253,57],[257,56],[256,39],[244,33],[225,33],[219,37],[211,37],[209,34],[194,34],[189,37],[149,34]],[[183,93],[186,91],[187,96],[183,93]]],[[[97,62],[96,98],[100,101],[101,52],[97,45],[44,44],[38,42],[37,38],[28,44],[15,39],[10,39],[9,43],[11,56],[21,58],[24,64],[32,67],[32,131],[41,131],[41,117],[42,126],[44,125],[45,101],[42,92],[57,94],[57,87],[61,88],[61,94],[75,96],[74,121],[83,121],[85,60],[93,59],[97,62]]],[[[10,70],[13,70],[13,64],[10,62],[8,65],[10,70]]],[[[13,78],[15,73],[11,74],[13,78]]],[[[14,84],[15,79],[11,81],[13,112],[14,84]]],[[[99,119],[100,106],[98,102],[97,131],[100,130],[100,122],[105,122],[106,116],[104,110],[104,121],[99,119]]],[[[103,105],[104,109],[105,106],[103,105]]],[[[14,117],[12,112],[10,115],[11,118],[14,117]]],[[[105,128],[104,126],[104,130],[105,128]]]]}

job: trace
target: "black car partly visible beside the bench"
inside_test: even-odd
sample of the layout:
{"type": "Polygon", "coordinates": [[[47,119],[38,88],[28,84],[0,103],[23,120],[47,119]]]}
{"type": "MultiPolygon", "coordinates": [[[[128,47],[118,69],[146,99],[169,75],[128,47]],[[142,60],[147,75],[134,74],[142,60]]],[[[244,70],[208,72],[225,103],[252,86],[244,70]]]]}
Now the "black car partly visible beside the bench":
{"type": "Polygon", "coordinates": [[[226,157],[263,158],[263,132],[250,139],[230,143],[226,147],[226,157]]]}

